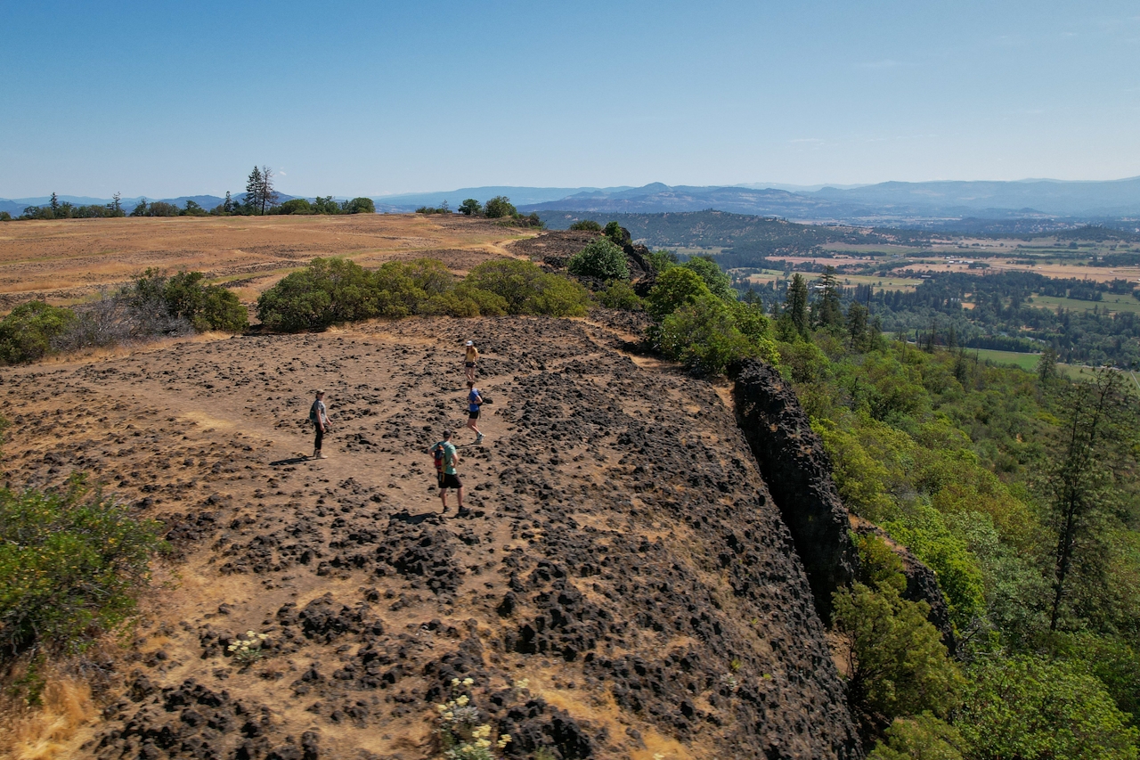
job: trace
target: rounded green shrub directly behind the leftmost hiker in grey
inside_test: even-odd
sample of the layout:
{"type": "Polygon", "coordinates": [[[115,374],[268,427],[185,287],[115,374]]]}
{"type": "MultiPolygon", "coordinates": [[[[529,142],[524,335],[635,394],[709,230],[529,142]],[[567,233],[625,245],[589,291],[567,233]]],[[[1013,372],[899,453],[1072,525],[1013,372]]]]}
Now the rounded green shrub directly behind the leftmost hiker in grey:
{"type": "Polygon", "coordinates": [[[298,332],[367,320],[381,313],[372,277],[348,259],[314,259],[258,298],[258,318],[274,330],[298,332]]]}

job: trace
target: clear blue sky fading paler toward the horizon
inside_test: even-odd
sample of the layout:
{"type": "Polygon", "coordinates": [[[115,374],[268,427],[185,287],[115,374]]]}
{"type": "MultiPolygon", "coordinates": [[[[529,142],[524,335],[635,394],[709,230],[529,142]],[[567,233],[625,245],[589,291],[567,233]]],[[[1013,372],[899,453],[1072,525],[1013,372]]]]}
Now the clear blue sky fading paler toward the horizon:
{"type": "Polygon", "coordinates": [[[0,197],[1140,175],[1129,2],[7,2],[0,197]]]}

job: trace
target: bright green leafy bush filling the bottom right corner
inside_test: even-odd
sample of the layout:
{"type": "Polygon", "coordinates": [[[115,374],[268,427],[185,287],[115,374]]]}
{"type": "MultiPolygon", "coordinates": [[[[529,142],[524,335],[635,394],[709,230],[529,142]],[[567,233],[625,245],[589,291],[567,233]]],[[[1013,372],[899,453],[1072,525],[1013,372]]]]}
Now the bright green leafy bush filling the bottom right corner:
{"type": "Polygon", "coordinates": [[[1135,760],[1140,731],[1104,685],[1077,666],[1035,657],[987,657],[954,725],[971,758],[1135,760]]]}

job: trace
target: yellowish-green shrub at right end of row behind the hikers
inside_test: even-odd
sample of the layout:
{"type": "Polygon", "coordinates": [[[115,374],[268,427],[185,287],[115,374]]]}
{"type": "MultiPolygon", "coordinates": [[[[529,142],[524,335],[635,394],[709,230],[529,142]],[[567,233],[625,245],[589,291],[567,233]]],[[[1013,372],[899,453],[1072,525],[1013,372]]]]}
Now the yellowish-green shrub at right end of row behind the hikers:
{"type": "Polygon", "coordinates": [[[484,261],[471,270],[464,285],[498,296],[507,314],[584,316],[589,304],[589,293],[580,284],[520,259],[484,261]]]}

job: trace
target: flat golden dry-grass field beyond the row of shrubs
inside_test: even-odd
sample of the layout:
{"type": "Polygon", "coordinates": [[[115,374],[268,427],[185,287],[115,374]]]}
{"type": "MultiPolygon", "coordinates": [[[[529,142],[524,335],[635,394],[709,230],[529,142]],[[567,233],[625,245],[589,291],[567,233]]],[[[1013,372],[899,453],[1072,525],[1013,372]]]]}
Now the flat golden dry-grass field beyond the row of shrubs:
{"type": "Polygon", "coordinates": [[[0,310],[32,299],[70,304],[148,267],[197,269],[243,301],[316,257],[364,266],[431,256],[455,272],[531,231],[422,215],[63,219],[0,226],[0,310]]]}

